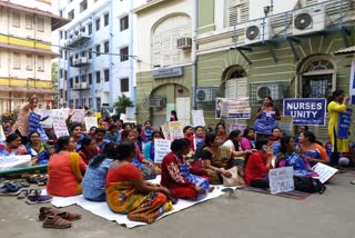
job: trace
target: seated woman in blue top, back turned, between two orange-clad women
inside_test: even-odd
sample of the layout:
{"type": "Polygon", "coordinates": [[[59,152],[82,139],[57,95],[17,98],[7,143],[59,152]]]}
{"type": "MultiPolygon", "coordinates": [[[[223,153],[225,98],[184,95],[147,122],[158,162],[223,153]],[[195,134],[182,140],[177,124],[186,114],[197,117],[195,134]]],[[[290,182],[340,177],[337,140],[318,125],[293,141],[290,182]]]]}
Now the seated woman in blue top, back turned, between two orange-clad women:
{"type": "Polygon", "coordinates": [[[106,200],[105,185],[108,170],[119,153],[118,145],[109,142],[105,145],[102,153],[91,159],[82,180],[82,195],[84,198],[92,201],[106,200]]]}

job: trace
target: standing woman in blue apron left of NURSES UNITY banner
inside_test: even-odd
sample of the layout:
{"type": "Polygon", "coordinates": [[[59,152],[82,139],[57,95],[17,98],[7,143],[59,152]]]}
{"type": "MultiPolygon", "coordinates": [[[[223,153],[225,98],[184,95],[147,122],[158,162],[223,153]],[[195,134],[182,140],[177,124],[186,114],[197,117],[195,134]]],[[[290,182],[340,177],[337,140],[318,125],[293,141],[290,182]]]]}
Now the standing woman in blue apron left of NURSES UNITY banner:
{"type": "Polygon", "coordinates": [[[265,138],[272,135],[272,129],[276,127],[276,120],[280,120],[280,111],[273,105],[273,99],[266,97],[263,106],[256,112],[256,120],[254,129],[256,131],[256,139],[265,138]]]}

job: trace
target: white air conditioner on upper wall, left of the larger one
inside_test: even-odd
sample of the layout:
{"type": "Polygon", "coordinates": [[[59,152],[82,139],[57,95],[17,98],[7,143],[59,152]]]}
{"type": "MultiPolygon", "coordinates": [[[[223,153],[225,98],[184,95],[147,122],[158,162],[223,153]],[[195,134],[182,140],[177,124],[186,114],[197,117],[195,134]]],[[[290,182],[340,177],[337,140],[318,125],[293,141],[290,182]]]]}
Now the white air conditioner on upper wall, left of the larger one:
{"type": "Polygon", "coordinates": [[[272,39],[274,32],[268,19],[258,19],[246,24],[244,37],[245,44],[251,44],[272,39]]]}

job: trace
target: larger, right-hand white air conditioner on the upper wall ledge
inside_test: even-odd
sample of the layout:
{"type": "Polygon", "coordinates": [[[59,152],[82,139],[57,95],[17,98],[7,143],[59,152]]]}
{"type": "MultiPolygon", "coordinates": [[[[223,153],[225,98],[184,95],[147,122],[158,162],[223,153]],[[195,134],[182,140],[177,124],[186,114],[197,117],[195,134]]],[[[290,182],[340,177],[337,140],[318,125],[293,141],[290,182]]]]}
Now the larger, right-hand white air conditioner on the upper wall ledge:
{"type": "Polygon", "coordinates": [[[327,27],[324,6],[297,10],[293,13],[293,34],[322,31],[327,27]]]}

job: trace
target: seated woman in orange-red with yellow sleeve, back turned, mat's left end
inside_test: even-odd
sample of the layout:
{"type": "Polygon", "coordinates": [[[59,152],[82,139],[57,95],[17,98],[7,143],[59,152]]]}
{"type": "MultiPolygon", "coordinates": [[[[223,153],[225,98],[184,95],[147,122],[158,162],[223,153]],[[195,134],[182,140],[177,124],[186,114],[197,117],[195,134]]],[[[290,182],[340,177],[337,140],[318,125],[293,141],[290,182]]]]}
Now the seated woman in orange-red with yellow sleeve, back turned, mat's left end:
{"type": "Polygon", "coordinates": [[[47,191],[52,196],[70,197],[81,195],[82,175],[87,163],[78,152],[73,152],[77,143],[72,137],[60,137],[57,152],[48,163],[47,191]]]}

